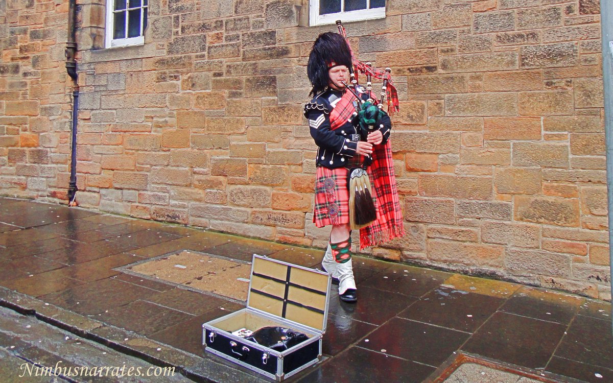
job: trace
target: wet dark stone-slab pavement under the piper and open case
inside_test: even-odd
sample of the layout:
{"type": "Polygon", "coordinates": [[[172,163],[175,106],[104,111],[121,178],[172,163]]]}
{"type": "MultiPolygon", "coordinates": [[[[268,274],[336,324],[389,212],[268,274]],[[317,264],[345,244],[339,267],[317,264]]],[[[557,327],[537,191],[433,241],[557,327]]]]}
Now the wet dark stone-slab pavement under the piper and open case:
{"type": "MultiPolygon", "coordinates": [[[[305,267],[323,253],[0,197],[0,306],[193,381],[267,381],[202,351],[202,323],[244,303],[128,268],[185,251],[305,267]]],[[[359,301],[333,289],[324,360],[288,382],[613,382],[610,303],[366,257],[354,269],[359,301]]]]}

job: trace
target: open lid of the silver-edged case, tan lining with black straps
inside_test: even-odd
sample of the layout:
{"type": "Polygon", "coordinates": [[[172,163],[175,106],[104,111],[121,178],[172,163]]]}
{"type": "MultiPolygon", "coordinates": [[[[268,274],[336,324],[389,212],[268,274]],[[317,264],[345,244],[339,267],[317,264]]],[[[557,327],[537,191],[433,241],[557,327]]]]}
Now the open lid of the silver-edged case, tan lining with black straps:
{"type": "Polygon", "coordinates": [[[330,275],[253,254],[247,307],[326,332],[330,275]]]}

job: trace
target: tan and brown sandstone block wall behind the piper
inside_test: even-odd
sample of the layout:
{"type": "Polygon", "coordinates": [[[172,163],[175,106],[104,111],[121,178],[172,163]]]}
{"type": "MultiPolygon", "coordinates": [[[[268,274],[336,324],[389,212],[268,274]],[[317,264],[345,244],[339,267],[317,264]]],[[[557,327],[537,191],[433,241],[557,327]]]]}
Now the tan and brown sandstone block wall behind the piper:
{"type": "MultiPolygon", "coordinates": [[[[65,202],[67,1],[0,5],[0,192],[65,202]]],[[[150,0],[145,45],[78,12],[77,201],[324,246],[302,117],[319,33],[289,0],[150,0]]],[[[407,235],[376,257],[610,299],[598,0],[389,0],[346,24],[392,67],[407,235]]]]}

